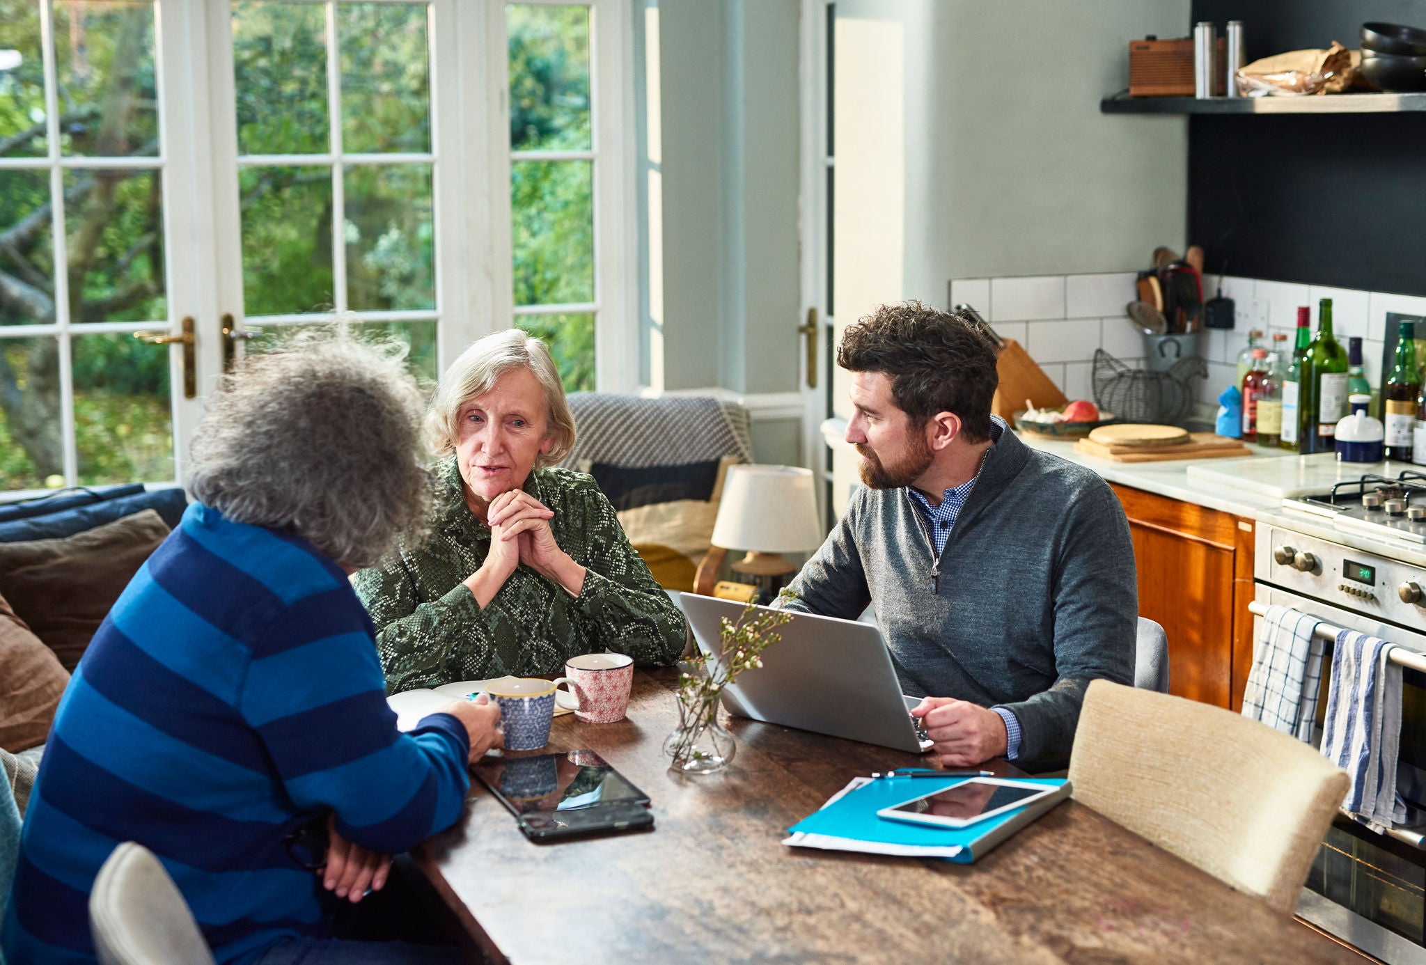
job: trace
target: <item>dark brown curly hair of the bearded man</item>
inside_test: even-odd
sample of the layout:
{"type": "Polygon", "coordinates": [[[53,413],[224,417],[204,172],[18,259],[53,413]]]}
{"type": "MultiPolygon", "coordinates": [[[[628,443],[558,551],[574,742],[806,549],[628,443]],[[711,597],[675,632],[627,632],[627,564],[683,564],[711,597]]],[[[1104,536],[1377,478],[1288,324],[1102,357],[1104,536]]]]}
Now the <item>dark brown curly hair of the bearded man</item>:
{"type": "Polygon", "coordinates": [[[837,365],[883,372],[891,398],[921,428],[937,412],[954,412],[968,442],[990,439],[990,406],[1000,382],[995,342],[975,319],[921,302],[881,305],[850,325],[837,365]]]}

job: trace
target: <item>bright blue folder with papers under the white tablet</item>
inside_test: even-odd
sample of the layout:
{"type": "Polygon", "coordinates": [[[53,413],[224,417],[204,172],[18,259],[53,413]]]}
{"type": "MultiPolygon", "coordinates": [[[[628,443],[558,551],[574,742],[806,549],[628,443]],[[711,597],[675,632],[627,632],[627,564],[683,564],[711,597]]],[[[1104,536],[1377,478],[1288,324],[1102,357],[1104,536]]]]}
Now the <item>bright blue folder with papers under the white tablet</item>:
{"type": "Polygon", "coordinates": [[[1044,784],[1058,790],[1014,811],[977,821],[964,828],[910,824],[877,815],[881,808],[896,807],[918,794],[943,791],[964,780],[961,777],[948,777],[944,781],[856,777],[820,810],[790,827],[791,835],[783,840],[783,844],[827,851],[944,858],[958,864],[970,864],[1070,797],[1072,790],[1070,781],[1064,778],[1017,778],[1024,784],[1044,784]]]}

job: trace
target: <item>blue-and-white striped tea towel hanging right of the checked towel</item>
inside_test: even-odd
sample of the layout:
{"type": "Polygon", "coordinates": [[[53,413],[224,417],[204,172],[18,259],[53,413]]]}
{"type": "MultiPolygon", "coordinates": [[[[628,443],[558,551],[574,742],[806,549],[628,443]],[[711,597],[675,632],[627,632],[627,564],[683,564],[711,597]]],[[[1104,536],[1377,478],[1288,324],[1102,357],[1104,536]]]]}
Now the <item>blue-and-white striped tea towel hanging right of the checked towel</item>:
{"type": "Polygon", "coordinates": [[[1322,753],[1352,778],[1342,810],[1373,831],[1406,821],[1396,797],[1402,737],[1402,669],[1386,640],[1343,630],[1332,654],[1322,753]]]}

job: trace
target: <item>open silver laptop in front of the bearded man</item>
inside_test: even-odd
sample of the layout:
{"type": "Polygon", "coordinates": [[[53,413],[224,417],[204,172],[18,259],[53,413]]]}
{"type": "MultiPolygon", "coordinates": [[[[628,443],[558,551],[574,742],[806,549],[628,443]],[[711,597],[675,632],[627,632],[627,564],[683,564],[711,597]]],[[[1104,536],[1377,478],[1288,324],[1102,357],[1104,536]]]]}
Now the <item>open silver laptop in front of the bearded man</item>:
{"type": "MultiPolygon", "coordinates": [[[[679,603],[699,649],[719,656],[719,619],[736,621],[743,604],[696,593],[679,603]]],[[[921,701],[901,693],[873,624],[799,613],[777,633],[781,640],[763,651],[763,666],[723,690],[729,713],[913,754],[931,748],[907,713],[921,701]]]]}

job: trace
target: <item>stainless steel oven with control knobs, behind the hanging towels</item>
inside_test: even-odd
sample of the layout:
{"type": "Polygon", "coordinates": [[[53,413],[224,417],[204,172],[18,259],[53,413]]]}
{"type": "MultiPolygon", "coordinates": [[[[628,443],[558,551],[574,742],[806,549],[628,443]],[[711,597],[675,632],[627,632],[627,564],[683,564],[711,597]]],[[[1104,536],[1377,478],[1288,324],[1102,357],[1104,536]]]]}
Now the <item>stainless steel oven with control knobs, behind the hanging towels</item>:
{"type": "MultiPolygon", "coordinates": [[[[1285,510],[1292,506],[1285,505],[1285,510]]],[[[1338,627],[1359,630],[1426,653],[1426,567],[1390,542],[1380,552],[1325,539],[1306,515],[1305,533],[1285,512],[1258,523],[1255,600],[1291,606],[1338,627]]],[[[1375,546],[1375,543],[1370,543],[1375,546]]],[[[1255,620],[1261,631],[1262,619],[1255,620]]],[[[1255,634],[1256,639],[1256,634],[1255,634]]],[[[1323,667],[1319,724],[1326,708],[1330,644],[1323,667]]],[[[1320,733],[1320,727],[1319,727],[1320,733]]],[[[1426,820],[1426,673],[1403,670],[1397,791],[1426,820]]],[[[1426,841],[1412,828],[1376,834],[1340,817],[1308,878],[1298,914],[1387,962],[1426,964],[1426,841]]]]}

